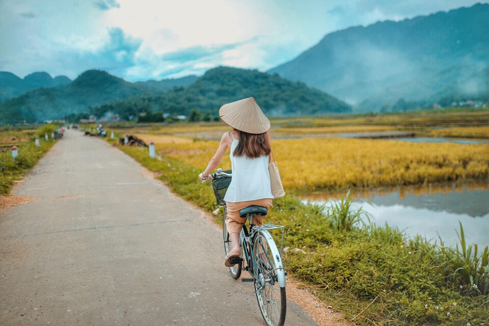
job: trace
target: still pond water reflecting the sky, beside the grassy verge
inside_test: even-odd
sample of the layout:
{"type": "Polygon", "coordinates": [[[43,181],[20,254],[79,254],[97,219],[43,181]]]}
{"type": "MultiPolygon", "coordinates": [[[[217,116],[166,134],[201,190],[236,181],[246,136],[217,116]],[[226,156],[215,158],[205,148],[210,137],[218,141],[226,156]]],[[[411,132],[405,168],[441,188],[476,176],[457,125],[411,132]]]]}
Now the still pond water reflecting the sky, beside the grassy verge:
{"type": "MultiPolygon", "coordinates": [[[[331,201],[344,195],[315,194],[304,199],[329,206],[331,201]]],[[[440,236],[447,246],[455,246],[460,221],[467,242],[489,246],[487,182],[356,192],[351,196],[358,198],[355,208],[362,206],[372,216],[372,222],[378,225],[388,223],[410,236],[420,234],[433,241],[440,236]]]]}

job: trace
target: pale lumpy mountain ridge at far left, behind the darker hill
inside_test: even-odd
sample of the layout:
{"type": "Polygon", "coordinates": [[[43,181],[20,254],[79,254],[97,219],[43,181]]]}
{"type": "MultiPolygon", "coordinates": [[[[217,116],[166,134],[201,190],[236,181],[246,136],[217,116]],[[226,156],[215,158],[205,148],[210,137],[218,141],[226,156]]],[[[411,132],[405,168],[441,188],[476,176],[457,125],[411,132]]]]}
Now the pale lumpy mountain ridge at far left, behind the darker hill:
{"type": "Polygon", "coordinates": [[[21,79],[11,72],[0,71],[0,102],[36,88],[63,86],[69,83],[71,83],[70,78],[66,76],[52,78],[47,72],[35,72],[21,79]]]}

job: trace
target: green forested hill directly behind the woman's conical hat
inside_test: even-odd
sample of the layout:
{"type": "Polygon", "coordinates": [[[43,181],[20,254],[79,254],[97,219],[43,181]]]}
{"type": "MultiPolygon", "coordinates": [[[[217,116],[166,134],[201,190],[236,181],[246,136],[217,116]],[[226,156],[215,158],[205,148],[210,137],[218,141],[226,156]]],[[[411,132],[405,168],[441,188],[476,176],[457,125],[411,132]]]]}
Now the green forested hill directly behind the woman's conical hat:
{"type": "Polygon", "coordinates": [[[192,109],[217,116],[223,103],[253,96],[268,116],[300,116],[350,112],[346,103],[304,83],[290,82],[277,74],[257,70],[218,67],[208,70],[187,88],[102,105],[92,110],[97,117],[107,112],[123,119],[141,112],[187,115],[192,109]]]}

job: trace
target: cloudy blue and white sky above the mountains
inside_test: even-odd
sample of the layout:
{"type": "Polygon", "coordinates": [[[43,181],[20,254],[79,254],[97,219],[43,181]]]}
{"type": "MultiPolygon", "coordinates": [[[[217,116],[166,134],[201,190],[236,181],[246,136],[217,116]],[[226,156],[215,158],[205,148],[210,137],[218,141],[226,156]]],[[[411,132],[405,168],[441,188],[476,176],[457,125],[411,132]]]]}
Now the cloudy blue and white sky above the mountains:
{"type": "Polygon", "coordinates": [[[486,0],[0,0],[0,71],[71,79],[88,69],[130,82],[266,71],[325,35],[486,0]]]}

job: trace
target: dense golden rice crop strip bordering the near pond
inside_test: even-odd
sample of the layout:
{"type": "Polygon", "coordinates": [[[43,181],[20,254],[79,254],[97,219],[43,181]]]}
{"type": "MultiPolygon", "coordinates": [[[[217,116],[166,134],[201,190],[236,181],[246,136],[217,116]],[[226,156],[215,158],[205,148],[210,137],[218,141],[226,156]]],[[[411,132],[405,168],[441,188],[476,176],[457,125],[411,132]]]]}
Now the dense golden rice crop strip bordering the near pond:
{"type": "MultiPolygon", "coordinates": [[[[156,149],[204,169],[219,142],[157,144],[156,149]]],[[[293,139],[273,141],[284,187],[301,191],[416,185],[483,179],[489,146],[390,140],[293,139]]],[[[230,168],[229,152],[222,162],[230,168]]]]}

